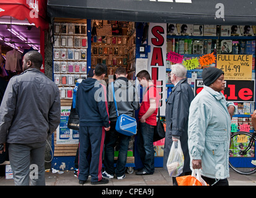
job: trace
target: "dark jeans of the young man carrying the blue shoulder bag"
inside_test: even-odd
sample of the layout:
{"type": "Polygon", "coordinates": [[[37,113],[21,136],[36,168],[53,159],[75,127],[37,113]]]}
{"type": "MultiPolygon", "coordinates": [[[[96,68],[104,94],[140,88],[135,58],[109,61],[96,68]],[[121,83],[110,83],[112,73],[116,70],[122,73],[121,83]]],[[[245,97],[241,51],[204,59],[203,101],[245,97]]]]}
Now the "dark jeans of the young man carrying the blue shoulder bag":
{"type": "Polygon", "coordinates": [[[104,167],[108,174],[116,174],[117,177],[125,174],[125,165],[127,159],[128,145],[130,136],[125,136],[115,131],[115,124],[117,122],[110,122],[110,131],[106,132],[105,136],[105,155],[104,155],[104,167]],[[114,152],[115,146],[119,142],[119,152],[117,158],[117,166],[114,168],[114,152]]]}

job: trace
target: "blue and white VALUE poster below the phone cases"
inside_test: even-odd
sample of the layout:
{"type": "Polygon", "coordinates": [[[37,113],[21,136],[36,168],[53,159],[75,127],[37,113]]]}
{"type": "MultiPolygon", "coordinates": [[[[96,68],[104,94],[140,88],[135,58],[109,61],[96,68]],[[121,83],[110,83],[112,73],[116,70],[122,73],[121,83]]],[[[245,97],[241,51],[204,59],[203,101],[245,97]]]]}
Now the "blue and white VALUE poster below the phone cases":
{"type": "Polygon", "coordinates": [[[68,128],[68,116],[71,106],[61,106],[60,125],[56,129],[56,144],[78,144],[79,131],[68,128]]]}

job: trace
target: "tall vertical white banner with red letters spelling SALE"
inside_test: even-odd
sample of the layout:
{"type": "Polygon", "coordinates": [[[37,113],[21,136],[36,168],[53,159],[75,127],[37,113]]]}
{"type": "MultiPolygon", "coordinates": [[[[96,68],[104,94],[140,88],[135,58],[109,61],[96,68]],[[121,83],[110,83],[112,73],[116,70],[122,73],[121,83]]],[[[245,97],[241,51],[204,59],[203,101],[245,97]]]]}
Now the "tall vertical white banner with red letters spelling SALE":
{"type": "Polygon", "coordinates": [[[149,24],[148,71],[161,96],[160,116],[164,116],[166,109],[166,31],[166,24],[149,24]]]}

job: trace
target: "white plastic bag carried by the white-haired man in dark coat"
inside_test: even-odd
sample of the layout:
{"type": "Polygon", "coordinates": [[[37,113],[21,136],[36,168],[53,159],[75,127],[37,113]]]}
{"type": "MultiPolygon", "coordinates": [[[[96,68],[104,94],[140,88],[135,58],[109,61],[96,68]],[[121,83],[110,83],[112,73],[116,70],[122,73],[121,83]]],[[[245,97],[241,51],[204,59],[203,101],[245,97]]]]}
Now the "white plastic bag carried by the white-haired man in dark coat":
{"type": "Polygon", "coordinates": [[[170,153],[167,160],[167,170],[169,176],[177,177],[183,171],[184,166],[184,155],[182,152],[182,145],[180,140],[172,142],[172,147],[170,147],[170,153]]]}

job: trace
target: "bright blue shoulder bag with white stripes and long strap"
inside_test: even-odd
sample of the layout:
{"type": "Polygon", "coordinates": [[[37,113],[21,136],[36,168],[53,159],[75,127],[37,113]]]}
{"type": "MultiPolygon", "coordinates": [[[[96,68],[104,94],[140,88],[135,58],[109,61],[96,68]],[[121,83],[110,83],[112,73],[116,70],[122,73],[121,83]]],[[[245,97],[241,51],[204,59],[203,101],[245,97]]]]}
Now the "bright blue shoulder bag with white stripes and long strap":
{"type": "Polygon", "coordinates": [[[119,116],[119,113],[117,110],[117,101],[115,100],[115,89],[114,89],[113,82],[112,82],[112,90],[113,90],[113,99],[115,102],[115,111],[117,111],[117,124],[115,125],[115,130],[117,132],[120,132],[123,135],[133,136],[136,134],[136,131],[137,131],[136,119],[131,116],[127,116],[126,114],[121,114],[119,116]]]}

